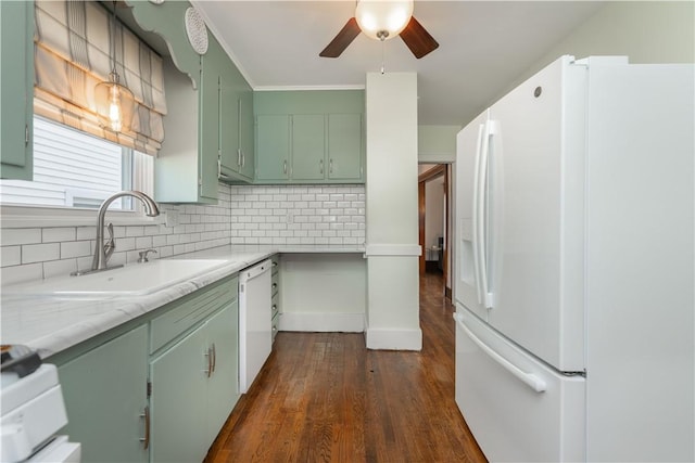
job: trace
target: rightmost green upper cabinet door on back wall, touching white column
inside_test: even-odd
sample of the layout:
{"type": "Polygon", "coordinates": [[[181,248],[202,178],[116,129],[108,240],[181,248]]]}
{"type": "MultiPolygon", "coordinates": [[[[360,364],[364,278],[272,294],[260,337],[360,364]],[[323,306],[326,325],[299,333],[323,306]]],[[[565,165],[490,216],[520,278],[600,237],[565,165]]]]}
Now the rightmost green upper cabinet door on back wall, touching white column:
{"type": "Polygon", "coordinates": [[[328,116],[328,178],[363,179],[363,140],[361,114],[328,116]]]}

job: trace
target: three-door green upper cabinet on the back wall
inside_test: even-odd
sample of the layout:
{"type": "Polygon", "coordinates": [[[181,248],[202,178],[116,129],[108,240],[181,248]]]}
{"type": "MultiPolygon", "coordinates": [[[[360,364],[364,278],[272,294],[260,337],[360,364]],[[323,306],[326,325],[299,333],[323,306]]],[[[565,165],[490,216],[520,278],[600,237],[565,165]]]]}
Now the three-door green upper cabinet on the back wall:
{"type": "Polygon", "coordinates": [[[256,183],[364,183],[364,91],[254,95],[256,183]]]}

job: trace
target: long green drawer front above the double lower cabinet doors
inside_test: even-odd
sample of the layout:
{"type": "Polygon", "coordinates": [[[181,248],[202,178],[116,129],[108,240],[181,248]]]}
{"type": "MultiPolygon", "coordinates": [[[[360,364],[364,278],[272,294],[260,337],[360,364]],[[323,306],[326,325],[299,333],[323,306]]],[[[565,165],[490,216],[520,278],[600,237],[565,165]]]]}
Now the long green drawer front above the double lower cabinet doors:
{"type": "Polygon", "coordinates": [[[174,303],[170,310],[150,323],[150,353],[167,344],[215,310],[237,300],[239,280],[229,280],[195,292],[192,297],[174,303]]]}

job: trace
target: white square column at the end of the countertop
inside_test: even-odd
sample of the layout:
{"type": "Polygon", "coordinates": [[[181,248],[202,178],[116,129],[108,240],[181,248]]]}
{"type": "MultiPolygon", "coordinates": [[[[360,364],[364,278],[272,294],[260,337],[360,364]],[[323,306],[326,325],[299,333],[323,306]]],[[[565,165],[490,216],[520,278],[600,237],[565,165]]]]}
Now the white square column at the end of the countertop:
{"type": "Polygon", "coordinates": [[[417,75],[367,74],[369,349],[420,350],[417,75]]]}

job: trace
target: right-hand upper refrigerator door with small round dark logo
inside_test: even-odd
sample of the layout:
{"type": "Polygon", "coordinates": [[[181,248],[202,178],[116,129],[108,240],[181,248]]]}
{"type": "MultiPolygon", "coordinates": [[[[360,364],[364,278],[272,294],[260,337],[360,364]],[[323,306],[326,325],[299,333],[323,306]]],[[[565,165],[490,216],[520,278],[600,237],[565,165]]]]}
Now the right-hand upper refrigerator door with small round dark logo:
{"type": "Polygon", "coordinates": [[[557,370],[584,371],[586,66],[564,56],[490,108],[488,321],[557,370]]]}

